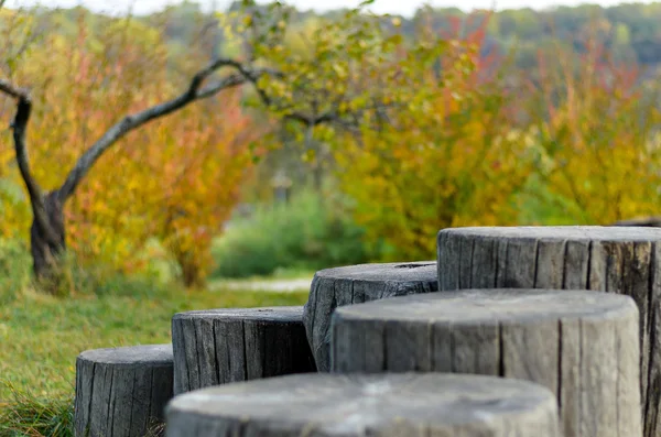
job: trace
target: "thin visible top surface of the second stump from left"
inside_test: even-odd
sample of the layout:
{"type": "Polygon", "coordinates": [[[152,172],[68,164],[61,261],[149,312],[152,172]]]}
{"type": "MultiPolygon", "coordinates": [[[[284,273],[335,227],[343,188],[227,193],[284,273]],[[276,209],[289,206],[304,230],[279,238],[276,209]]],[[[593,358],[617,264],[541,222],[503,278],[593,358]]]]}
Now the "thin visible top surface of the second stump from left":
{"type": "Polygon", "coordinates": [[[177,313],[173,318],[301,321],[303,319],[303,306],[202,309],[177,313]]]}

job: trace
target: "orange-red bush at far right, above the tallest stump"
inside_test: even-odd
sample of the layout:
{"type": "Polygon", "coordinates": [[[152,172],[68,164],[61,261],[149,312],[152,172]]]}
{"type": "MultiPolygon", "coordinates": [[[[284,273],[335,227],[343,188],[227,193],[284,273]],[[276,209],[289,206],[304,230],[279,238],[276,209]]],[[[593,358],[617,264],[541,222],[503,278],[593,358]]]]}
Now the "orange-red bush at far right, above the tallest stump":
{"type": "Polygon", "coordinates": [[[592,36],[582,52],[557,44],[539,54],[540,77],[527,89],[538,174],[566,223],[658,215],[658,79],[592,36]]]}

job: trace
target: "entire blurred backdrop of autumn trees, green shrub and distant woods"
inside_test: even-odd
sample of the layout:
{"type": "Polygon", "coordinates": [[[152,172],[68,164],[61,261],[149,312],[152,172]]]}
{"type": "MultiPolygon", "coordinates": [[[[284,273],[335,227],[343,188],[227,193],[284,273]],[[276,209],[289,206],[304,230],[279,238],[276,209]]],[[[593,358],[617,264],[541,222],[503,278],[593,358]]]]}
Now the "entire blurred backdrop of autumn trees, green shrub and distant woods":
{"type": "MultiPolygon", "coordinates": [[[[82,265],[199,287],[209,272],[433,259],[448,226],[657,214],[659,19],[658,4],[412,18],[4,8],[0,61],[32,87],[46,188],[117,114],[172,96],[215,56],[283,73],[131,133],[68,206],[82,265]]],[[[9,241],[26,238],[31,211],[1,135],[9,241]]]]}

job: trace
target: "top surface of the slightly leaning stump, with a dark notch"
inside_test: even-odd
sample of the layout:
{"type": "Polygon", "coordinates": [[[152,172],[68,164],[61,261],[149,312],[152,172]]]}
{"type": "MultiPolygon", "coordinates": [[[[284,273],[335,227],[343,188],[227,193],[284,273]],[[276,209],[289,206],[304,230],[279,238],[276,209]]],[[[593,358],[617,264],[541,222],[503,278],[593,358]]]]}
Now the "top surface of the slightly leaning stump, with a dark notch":
{"type": "Polygon", "coordinates": [[[366,282],[436,282],[436,261],[358,264],[324,269],[316,277],[366,282]]]}

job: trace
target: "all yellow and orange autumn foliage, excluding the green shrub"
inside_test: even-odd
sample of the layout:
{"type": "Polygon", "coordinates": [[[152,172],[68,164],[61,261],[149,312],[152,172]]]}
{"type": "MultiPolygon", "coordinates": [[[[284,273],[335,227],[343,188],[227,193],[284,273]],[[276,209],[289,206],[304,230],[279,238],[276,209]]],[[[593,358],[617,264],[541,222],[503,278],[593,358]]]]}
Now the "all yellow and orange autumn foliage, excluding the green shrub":
{"type": "MultiPolygon", "coordinates": [[[[387,243],[380,259],[432,259],[446,227],[659,214],[658,81],[614,59],[602,30],[583,30],[581,47],[549,44],[535,68],[518,70],[516,47],[489,43],[488,13],[442,30],[421,14],[409,39],[402,20],[358,9],[295,25],[280,3],[254,11],[218,15],[224,48],[279,74],[151,122],[109,150],[67,205],[68,244],[80,260],[137,272],[165,258],[186,284],[203,283],[253,145],[266,144],[278,119],[313,168],[332,156],[326,188],[350,199],[366,243],[387,243]]],[[[45,33],[4,67],[33,89],[30,153],[46,189],[118,117],[176,94],[212,56],[196,44],[175,53],[158,26],[105,20],[93,25],[82,11],[75,29],[45,33]]],[[[28,24],[2,28],[4,41],[30,40],[20,32],[28,24]]],[[[11,107],[0,111],[8,118],[11,107]]],[[[25,236],[30,205],[6,144],[9,134],[0,232],[25,236]]]]}

